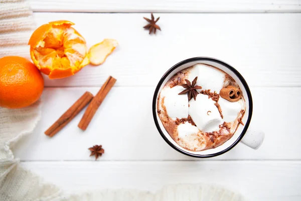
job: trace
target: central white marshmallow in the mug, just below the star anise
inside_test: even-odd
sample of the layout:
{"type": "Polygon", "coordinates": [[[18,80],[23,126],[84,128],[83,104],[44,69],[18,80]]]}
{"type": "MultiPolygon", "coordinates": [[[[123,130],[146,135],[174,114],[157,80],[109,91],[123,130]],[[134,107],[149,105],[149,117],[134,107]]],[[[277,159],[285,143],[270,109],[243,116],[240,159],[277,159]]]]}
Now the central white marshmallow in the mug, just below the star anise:
{"type": "Polygon", "coordinates": [[[202,132],[213,132],[219,130],[219,125],[223,124],[223,120],[214,105],[215,101],[208,98],[208,95],[198,94],[197,99],[191,99],[188,114],[202,132]],[[211,111],[208,112],[208,111],[211,111]],[[207,114],[208,112],[208,114],[207,114]]]}

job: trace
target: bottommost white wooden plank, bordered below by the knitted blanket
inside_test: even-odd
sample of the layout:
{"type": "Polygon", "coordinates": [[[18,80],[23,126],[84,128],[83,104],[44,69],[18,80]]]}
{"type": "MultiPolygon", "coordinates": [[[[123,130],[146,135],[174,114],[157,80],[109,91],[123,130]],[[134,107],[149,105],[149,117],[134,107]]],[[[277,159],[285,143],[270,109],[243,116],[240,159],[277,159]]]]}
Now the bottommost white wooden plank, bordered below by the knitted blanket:
{"type": "Polygon", "coordinates": [[[168,184],[216,183],[239,191],[249,200],[301,199],[300,161],[86,161],[23,162],[22,165],[73,193],[99,188],[154,192],[168,184]]]}

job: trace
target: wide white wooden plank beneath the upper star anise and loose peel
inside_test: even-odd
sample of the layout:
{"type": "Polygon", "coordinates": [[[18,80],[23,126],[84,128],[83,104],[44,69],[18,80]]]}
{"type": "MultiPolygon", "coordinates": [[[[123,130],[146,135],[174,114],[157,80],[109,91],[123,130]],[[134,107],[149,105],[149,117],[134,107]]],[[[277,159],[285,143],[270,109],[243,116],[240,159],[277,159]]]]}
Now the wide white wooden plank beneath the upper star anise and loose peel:
{"type": "Polygon", "coordinates": [[[176,63],[209,56],[233,65],[250,86],[301,86],[301,14],[156,14],[162,32],[142,27],[149,14],[35,13],[37,26],[66,19],[88,46],[114,38],[119,46],[101,66],[46,86],[155,86],[176,63]]]}

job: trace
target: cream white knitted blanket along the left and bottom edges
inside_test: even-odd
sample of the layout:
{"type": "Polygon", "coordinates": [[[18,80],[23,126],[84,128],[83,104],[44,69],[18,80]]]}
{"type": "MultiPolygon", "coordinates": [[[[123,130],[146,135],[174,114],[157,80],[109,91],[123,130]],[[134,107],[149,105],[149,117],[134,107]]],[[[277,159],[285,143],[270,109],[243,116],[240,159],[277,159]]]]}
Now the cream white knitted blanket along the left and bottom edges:
{"type": "MultiPolygon", "coordinates": [[[[29,58],[27,42],[35,28],[32,12],[23,0],[0,0],[0,57],[19,55],[29,58]]],[[[20,166],[12,147],[32,133],[41,116],[41,103],[28,108],[0,108],[0,201],[73,200],[73,201],[242,201],[240,194],[217,185],[178,184],[156,193],[135,189],[101,189],[81,195],[64,195],[61,189],[45,183],[39,176],[20,166]]],[[[43,134],[41,134],[43,135],[43,134]]]]}

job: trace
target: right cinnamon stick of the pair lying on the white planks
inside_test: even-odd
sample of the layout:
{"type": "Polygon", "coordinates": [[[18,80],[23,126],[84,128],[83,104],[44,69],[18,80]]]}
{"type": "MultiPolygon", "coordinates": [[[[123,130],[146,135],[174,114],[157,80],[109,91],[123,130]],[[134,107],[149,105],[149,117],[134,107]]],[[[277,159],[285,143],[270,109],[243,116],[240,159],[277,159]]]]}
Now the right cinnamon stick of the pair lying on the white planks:
{"type": "Polygon", "coordinates": [[[100,90],[97,92],[95,97],[92,99],[91,103],[89,104],[87,110],[85,111],[82,119],[80,120],[78,127],[82,130],[86,130],[89,126],[93,116],[95,115],[97,109],[103,102],[104,98],[108,94],[108,92],[111,90],[113,85],[115,84],[116,79],[112,76],[109,76],[109,78],[105,81],[105,83],[102,85],[100,90]]]}

